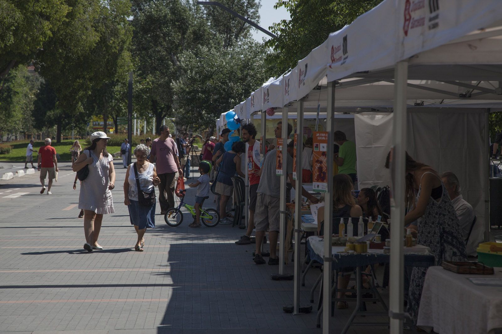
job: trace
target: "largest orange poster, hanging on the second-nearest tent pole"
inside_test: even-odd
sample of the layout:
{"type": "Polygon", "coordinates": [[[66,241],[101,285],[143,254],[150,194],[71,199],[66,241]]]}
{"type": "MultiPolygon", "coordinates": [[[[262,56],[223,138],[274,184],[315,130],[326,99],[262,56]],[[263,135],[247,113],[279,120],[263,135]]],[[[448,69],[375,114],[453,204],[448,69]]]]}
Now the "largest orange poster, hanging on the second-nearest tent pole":
{"type": "Polygon", "coordinates": [[[312,186],[315,192],[326,192],[328,179],[328,168],[326,164],[326,154],[328,146],[328,133],[326,131],[314,132],[313,165],[312,165],[312,186]]]}

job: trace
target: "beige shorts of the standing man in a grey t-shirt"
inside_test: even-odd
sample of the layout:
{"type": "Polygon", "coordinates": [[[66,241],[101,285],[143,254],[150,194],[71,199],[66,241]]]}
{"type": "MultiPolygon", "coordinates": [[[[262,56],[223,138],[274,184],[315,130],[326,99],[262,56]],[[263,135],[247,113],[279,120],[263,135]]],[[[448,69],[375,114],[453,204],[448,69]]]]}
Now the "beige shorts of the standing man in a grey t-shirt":
{"type": "Polygon", "coordinates": [[[277,231],[280,229],[279,203],[280,198],[264,193],[258,193],[255,211],[255,229],[257,231],[277,231]]]}

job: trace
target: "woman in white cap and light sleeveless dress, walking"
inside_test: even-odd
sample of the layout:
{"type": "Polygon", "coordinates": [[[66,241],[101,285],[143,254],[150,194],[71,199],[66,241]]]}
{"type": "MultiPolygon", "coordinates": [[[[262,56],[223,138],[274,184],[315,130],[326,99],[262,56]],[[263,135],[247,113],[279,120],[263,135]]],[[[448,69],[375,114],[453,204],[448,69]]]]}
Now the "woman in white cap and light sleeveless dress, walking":
{"type": "Polygon", "coordinates": [[[85,148],[73,164],[73,171],[78,172],[86,165],[89,174],[80,186],[78,208],[84,210],[84,249],[103,249],[98,243],[99,230],[103,214],[113,213],[111,189],[115,187],[113,157],[106,152],[108,139],[104,132],[94,132],[90,136],[91,145],[85,148]]]}

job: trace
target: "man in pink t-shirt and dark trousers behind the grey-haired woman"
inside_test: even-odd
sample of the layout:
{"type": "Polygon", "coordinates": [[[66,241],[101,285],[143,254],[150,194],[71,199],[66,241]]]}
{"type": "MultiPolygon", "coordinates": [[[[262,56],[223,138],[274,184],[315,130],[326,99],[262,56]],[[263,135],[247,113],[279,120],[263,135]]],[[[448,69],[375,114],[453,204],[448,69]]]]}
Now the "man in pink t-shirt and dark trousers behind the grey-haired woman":
{"type": "Polygon", "coordinates": [[[160,127],[160,137],[152,143],[150,161],[157,157],[157,175],[160,178],[159,203],[161,214],[174,207],[174,190],[176,189],[176,172],[183,176],[178,160],[178,148],[174,139],[169,138],[169,128],[160,127]],[[167,198],[166,198],[167,194],[167,198]]]}

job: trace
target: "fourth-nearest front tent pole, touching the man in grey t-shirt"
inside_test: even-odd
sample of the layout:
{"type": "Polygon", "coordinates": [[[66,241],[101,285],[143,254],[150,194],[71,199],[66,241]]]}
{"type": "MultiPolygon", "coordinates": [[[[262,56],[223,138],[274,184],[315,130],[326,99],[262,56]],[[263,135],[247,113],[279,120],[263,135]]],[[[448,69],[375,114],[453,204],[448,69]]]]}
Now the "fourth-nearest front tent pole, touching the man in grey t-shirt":
{"type": "MultiPolygon", "coordinates": [[[[286,178],[288,177],[288,111],[282,112],[282,175],[281,175],[281,204],[280,204],[280,225],[279,225],[279,275],[284,275],[284,245],[286,244],[286,178]]],[[[279,147],[277,148],[279,149],[279,147]]]]}

